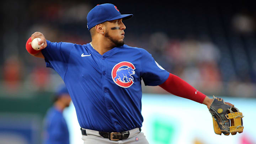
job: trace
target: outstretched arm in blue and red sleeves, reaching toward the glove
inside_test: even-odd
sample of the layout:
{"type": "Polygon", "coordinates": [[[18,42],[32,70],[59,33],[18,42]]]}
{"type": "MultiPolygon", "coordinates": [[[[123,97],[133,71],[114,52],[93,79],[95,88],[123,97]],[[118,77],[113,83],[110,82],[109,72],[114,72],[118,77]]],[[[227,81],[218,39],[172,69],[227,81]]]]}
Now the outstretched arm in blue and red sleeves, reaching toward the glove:
{"type": "Polygon", "coordinates": [[[208,108],[213,102],[212,98],[204,95],[202,92],[196,90],[186,81],[178,76],[169,73],[162,68],[145,49],[139,49],[141,52],[142,65],[142,79],[145,85],[156,86],[159,85],[164,90],[173,95],[187,98],[199,103],[203,103],[208,108]]]}

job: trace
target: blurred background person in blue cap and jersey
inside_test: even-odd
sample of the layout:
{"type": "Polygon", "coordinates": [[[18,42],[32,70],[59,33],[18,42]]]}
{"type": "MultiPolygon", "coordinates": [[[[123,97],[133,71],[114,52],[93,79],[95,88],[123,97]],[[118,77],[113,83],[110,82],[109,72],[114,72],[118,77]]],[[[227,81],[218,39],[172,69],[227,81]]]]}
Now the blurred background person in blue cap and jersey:
{"type": "Polygon", "coordinates": [[[71,102],[65,85],[60,85],[54,97],[54,104],[44,118],[44,144],[69,144],[69,130],[63,117],[63,110],[71,102]]]}

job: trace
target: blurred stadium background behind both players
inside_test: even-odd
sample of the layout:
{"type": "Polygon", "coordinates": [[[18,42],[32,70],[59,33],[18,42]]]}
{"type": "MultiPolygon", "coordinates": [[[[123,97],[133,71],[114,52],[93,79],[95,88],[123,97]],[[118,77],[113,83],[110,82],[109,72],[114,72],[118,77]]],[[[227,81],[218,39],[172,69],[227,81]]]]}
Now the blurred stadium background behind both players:
{"type": "MultiPolygon", "coordinates": [[[[244,133],[219,136],[213,132],[205,106],[169,95],[159,86],[143,86],[142,129],[150,143],[256,143],[256,125],[252,121],[256,118],[256,2],[188,0],[3,1],[0,143],[40,143],[44,114],[52,105],[55,88],[62,83],[55,71],[45,68],[42,59],[26,52],[27,39],[40,31],[50,41],[88,43],[91,38],[86,27],[87,13],[105,2],[116,5],[122,14],[134,14],[124,21],[126,44],[148,50],[167,71],[210,97],[225,97],[245,115],[244,133]],[[202,114],[196,117],[198,113],[202,114]],[[156,117],[159,119],[153,121],[156,117]],[[185,123],[177,124],[182,121],[185,123]],[[167,129],[156,129],[159,127],[167,129]],[[155,131],[158,135],[150,134],[155,131]]],[[[71,114],[73,107],[65,112],[70,125],[77,121],[71,114]]],[[[71,143],[74,135],[81,141],[75,126],[70,127],[71,143]]]]}

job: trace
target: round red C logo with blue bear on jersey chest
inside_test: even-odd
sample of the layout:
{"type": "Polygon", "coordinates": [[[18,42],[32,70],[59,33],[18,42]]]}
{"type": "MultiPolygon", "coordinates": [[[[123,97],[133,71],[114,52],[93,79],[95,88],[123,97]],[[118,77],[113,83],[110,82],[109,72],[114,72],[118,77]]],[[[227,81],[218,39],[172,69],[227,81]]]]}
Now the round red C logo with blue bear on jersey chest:
{"type": "Polygon", "coordinates": [[[135,74],[135,66],[130,62],[120,62],[116,64],[112,69],[113,81],[121,87],[130,87],[133,82],[133,76],[135,74]]]}

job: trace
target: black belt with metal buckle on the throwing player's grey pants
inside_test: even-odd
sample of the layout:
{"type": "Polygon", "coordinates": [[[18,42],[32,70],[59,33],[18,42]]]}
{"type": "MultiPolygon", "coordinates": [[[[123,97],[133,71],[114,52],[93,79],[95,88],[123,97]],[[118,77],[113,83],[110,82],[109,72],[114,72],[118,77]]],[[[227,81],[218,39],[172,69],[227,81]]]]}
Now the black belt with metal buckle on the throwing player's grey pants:
{"type": "MultiPolygon", "coordinates": [[[[141,128],[139,128],[139,131],[141,131],[141,128]]],[[[87,135],[86,134],[86,130],[81,128],[81,132],[82,135],[87,135]]],[[[117,141],[117,140],[122,140],[122,139],[127,139],[130,135],[130,132],[111,132],[111,133],[107,133],[107,132],[99,132],[99,134],[103,137],[103,138],[107,138],[113,141],[117,141]]]]}

